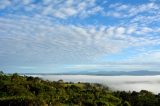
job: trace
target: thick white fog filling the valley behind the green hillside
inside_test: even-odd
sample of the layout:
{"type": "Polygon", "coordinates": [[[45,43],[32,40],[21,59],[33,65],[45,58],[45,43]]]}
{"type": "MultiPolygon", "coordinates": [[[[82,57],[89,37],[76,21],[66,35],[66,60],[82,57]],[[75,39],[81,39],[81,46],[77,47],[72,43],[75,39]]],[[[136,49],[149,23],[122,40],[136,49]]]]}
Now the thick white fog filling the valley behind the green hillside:
{"type": "Polygon", "coordinates": [[[160,76],[34,75],[49,81],[100,83],[112,90],[160,93],[160,76]]]}

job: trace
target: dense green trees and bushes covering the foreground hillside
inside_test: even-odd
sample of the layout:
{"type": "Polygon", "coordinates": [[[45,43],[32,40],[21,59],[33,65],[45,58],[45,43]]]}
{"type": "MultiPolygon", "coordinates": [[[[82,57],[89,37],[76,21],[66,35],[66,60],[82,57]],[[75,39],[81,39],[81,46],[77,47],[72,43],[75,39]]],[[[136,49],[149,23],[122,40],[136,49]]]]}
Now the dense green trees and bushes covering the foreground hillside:
{"type": "Polygon", "coordinates": [[[160,95],[0,73],[0,106],[160,106],[160,95]]]}

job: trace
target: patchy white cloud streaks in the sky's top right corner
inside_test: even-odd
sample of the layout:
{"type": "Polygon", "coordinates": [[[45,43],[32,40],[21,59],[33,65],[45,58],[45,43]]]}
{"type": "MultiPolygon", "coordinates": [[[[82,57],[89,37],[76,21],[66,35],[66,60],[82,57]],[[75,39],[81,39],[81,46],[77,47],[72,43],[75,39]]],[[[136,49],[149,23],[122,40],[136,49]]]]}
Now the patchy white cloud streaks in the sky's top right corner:
{"type": "Polygon", "coordinates": [[[121,19],[127,24],[137,23],[139,26],[147,26],[149,24],[157,23],[160,20],[160,4],[156,1],[142,3],[138,5],[127,3],[110,4],[107,11],[103,14],[107,17],[114,17],[121,19]]]}

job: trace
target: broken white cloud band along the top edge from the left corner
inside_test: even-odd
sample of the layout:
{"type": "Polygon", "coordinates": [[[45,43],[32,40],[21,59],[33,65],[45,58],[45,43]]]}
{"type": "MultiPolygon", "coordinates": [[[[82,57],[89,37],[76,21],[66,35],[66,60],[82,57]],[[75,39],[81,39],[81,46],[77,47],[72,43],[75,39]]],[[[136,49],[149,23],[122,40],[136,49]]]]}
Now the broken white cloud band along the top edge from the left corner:
{"type": "Polygon", "coordinates": [[[95,0],[3,0],[0,9],[9,9],[23,14],[52,16],[60,19],[87,17],[102,10],[95,0]]]}

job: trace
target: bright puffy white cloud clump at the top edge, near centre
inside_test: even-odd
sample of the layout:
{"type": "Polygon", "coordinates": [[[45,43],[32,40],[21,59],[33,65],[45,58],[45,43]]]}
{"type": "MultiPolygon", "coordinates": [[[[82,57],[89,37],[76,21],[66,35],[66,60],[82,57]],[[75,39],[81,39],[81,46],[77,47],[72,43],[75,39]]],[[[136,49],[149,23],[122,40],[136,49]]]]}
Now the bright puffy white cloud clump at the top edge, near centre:
{"type": "Polygon", "coordinates": [[[63,1],[61,4],[52,3],[44,9],[45,15],[66,19],[70,16],[86,17],[102,10],[102,7],[96,5],[95,0],[86,1],[63,1]],[[54,5],[53,5],[54,4],[54,5]],[[56,6],[55,6],[56,5],[56,6]]]}

